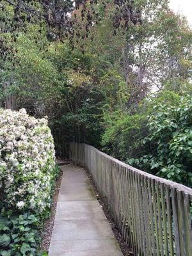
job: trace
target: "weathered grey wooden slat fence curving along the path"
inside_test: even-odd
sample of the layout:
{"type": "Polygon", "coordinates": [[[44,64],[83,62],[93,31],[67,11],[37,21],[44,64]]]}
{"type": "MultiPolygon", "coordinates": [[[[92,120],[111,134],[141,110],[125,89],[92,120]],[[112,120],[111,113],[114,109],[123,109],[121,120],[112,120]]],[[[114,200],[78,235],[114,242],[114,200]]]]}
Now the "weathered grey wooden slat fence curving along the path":
{"type": "Polygon", "coordinates": [[[70,143],[70,157],[92,174],[134,255],[192,255],[192,189],[142,172],[90,145],[70,143]]]}

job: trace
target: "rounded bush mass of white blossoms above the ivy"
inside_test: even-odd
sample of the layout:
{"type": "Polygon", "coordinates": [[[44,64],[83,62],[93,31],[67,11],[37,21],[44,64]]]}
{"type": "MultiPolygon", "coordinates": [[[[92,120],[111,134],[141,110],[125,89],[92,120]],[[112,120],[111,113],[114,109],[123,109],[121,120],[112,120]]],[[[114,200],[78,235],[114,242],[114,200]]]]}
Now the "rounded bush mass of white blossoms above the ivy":
{"type": "Polygon", "coordinates": [[[0,109],[0,195],[7,206],[40,212],[49,207],[54,156],[46,118],[0,109]]]}

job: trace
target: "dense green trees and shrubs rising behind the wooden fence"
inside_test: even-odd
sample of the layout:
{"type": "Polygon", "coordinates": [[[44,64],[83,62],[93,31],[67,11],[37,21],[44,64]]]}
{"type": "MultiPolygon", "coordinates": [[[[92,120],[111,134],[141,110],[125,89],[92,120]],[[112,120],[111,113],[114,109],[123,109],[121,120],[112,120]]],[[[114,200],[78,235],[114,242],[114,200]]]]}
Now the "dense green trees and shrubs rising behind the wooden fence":
{"type": "MultiPolygon", "coordinates": [[[[117,4],[88,5],[91,18],[80,6],[73,39],[47,37],[42,20],[4,29],[12,52],[0,60],[1,107],[47,115],[58,155],[67,157],[69,141],[90,143],[191,186],[191,28],[167,0],[132,1],[129,22],[117,4]]],[[[4,8],[11,24],[14,8],[4,8]]]]}

